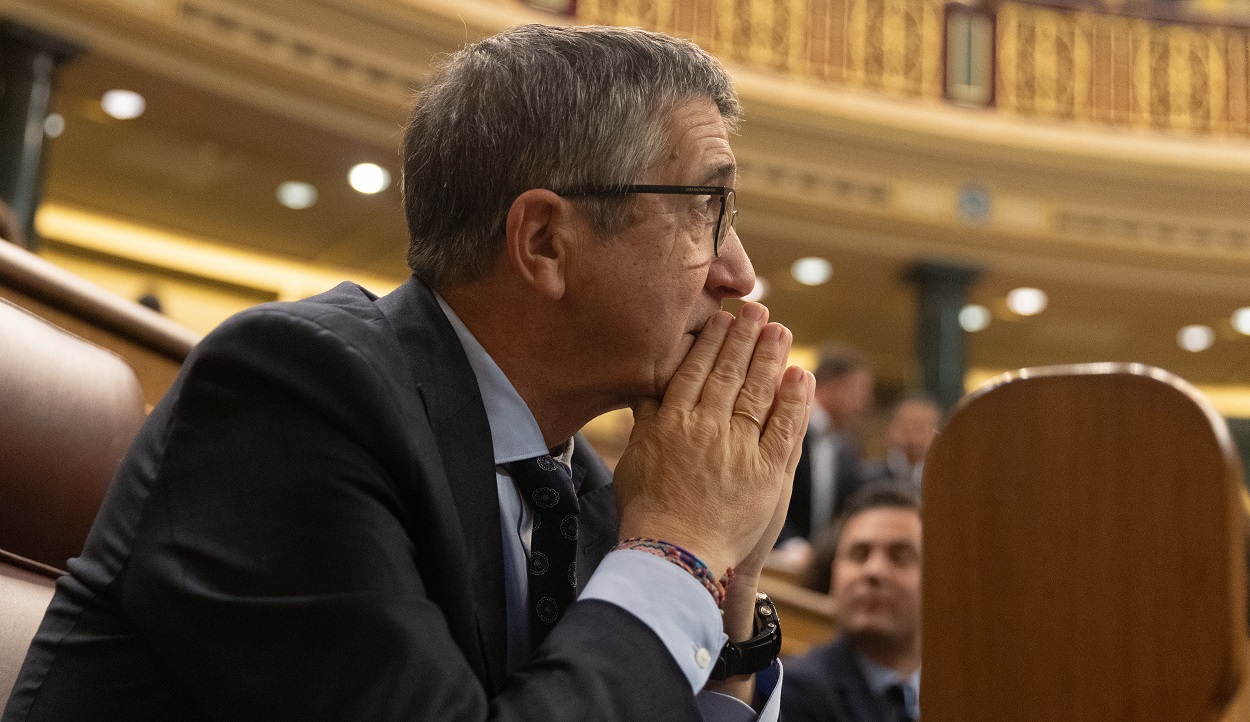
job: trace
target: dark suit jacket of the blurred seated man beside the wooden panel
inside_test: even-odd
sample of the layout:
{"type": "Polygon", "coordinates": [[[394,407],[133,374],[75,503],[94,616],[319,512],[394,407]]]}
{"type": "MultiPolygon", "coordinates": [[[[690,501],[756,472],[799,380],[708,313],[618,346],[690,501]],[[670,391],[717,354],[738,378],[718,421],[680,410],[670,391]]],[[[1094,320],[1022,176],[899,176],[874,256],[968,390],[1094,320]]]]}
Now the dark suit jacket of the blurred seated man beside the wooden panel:
{"type": "Polygon", "coordinates": [[[889,710],[872,695],[845,637],[785,661],[785,722],[892,722],[889,710]]]}

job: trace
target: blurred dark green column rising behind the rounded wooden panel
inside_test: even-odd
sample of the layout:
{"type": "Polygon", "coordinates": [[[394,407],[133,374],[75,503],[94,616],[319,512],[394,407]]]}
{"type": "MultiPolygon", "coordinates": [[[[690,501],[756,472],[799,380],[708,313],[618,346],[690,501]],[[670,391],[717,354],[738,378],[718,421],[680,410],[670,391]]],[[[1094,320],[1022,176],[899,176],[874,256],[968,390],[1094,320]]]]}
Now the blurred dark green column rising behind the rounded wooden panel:
{"type": "Polygon", "coordinates": [[[920,261],[904,277],[916,287],[916,360],[925,392],[942,408],[964,395],[968,370],[959,311],[981,269],[946,261],[920,261]]]}

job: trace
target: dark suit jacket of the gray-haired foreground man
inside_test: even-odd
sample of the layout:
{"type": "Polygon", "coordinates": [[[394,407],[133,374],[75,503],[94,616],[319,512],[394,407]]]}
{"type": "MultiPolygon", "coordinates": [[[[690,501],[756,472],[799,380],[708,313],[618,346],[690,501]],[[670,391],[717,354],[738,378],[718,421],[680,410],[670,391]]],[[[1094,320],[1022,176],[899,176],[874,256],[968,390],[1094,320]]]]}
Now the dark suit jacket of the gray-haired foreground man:
{"type": "MultiPolygon", "coordinates": [[[[589,576],[615,501],[575,463],[589,576]]],[[[245,311],[136,438],[4,722],[698,718],[655,633],[601,601],[508,677],[500,540],[476,380],[424,285],[245,311]]]]}

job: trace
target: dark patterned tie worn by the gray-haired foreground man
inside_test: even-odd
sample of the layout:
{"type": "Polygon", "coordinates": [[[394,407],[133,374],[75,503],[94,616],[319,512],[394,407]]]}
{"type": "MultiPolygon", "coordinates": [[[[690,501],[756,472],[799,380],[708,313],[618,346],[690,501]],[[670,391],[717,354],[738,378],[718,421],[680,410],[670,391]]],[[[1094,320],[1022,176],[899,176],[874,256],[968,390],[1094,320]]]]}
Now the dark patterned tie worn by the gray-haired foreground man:
{"type": "Polygon", "coordinates": [[[550,455],[504,465],[534,511],[530,538],[530,646],[536,648],[576,597],[578,492],[550,455]]]}

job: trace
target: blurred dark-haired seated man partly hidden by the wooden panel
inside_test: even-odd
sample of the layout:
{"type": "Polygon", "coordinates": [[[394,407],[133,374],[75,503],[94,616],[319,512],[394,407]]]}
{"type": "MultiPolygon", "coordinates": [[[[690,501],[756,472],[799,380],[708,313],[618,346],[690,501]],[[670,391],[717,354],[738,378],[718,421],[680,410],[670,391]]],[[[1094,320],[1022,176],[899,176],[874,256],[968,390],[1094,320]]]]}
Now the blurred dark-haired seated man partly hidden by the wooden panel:
{"type": "Polygon", "coordinates": [[[840,636],[786,662],[786,722],[920,718],[920,506],[906,488],[866,486],[832,527],[829,587],[840,636]]]}

